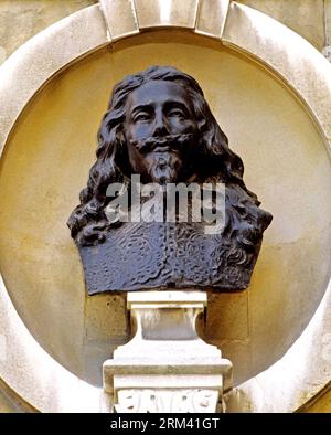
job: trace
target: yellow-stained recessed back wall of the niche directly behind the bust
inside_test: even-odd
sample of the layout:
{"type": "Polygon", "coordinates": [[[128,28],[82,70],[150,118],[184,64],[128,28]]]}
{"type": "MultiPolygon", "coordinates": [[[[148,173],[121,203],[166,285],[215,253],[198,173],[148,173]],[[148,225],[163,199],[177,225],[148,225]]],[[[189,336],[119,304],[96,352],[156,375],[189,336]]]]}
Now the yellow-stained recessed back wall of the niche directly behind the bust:
{"type": "Polygon", "coordinates": [[[173,31],[164,43],[166,33],[98,50],[55,75],[19,117],[1,160],[0,266],[10,298],[35,340],[95,385],[104,360],[129,339],[125,295],[86,296],[66,220],[111,88],[127,74],[157,64],[193,75],[243,158],[248,189],[274,215],[249,289],[210,294],[200,325],[232,360],[235,384],[284,356],[329,282],[330,160],[308,109],[250,59],[173,31]]]}

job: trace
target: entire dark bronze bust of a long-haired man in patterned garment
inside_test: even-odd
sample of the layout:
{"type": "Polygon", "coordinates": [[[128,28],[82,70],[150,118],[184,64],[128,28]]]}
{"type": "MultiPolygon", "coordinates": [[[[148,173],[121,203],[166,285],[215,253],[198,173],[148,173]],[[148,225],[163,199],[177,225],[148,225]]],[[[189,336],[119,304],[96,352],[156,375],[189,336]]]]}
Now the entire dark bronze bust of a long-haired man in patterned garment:
{"type": "MultiPolygon", "coordinates": [[[[243,162],[193,77],[159,66],[125,77],[114,87],[96,156],[81,204],[68,220],[89,295],[248,286],[273,216],[246,188],[243,162]],[[160,185],[161,202],[167,185],[201,187],[200,199],[205,185],[224,185],[222,231],[204,231],[205,216],[190,219],[193,197],[184,204],[184,221],[109,219],[107,208],[116,200],[126,199],[127,211],[134,210],[132,176],[142,185],[160,185]]],[[[211,198],[215,210],[215,194],[211,198]]]]}

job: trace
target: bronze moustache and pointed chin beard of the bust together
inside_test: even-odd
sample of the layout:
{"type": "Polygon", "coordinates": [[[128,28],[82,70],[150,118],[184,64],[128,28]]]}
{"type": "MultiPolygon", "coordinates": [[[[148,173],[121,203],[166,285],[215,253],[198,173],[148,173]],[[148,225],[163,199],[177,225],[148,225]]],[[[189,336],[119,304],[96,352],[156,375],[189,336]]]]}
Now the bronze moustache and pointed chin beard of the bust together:
{"type": "Polygon", "coordinates": [[[184,150],[191,148],[192,138],[193,134],[168,135],[132,141],[131,145],[143,155],[147,178],[166,184],[179,181],[184,172],[184,150]]]}

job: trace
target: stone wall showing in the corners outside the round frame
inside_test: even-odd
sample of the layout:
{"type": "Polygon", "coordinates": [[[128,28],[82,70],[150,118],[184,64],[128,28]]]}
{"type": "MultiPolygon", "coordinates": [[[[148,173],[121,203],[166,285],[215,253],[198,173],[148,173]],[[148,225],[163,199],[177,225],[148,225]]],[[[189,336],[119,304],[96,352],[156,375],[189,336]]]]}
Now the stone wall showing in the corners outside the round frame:
{"type": "MultiPolygon", "coordinates": [[[[15,49],[62,18],[94,4],[93,0],[0,0],[0,63],[15,49]]],[[[329,45],[331,31],[325,26],[329,0],[243,0],[277,19],[306,38],[319,51],[329,45]],[[329,35],[330,32],[330,35],[329,35]]],[[[314,404],[313,410],[318,405],[314,404]]],[[[329,407],[330,410],[330,407],[329,407]]],[[[15,412],[0,392],[0,412],[15,412]]],[[[324,411],[324,409],[323,409],[324,411]]]]}

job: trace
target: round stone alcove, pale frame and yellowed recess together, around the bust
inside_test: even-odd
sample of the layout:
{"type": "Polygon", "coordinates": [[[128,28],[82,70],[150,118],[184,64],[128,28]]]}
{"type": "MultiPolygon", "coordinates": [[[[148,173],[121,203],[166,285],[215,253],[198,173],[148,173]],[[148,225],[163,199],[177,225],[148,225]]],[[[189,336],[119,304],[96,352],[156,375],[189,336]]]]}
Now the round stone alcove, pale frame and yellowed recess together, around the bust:
{"type": "Polygon", "coordinates": [[[86,296],[66,220],[114,84],[173,65],[201,84],[247,187],[274,215],[248,290],[210,293],[199,329],[233,362],[229,411],[296,411],[331,376],[330,65],[235,1],[172,1],[167,11],[100,3],[41,32],[0,68],[1,382],[21,407],[109,411],[102,364],[129,340],[126,296],[86,296]]]}

